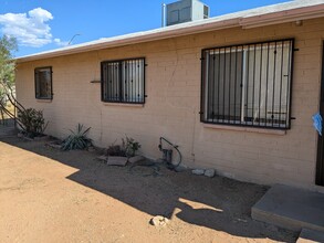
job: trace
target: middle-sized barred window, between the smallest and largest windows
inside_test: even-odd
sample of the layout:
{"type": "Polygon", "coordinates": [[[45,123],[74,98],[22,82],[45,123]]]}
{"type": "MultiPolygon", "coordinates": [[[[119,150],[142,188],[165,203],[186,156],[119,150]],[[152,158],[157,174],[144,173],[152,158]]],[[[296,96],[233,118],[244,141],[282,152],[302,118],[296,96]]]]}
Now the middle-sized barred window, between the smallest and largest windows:
{"type": "Polygon", "coordinates": [[[145,59],[102,63],[102,101],[145,103],[145,59]]]}

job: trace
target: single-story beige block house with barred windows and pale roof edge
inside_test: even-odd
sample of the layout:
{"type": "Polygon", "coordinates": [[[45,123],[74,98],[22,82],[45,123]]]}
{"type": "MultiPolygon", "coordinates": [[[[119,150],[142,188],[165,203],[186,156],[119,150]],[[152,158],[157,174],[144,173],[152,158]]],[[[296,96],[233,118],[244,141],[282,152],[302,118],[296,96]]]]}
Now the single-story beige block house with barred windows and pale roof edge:
{"type": "Polygon", "coordinates": [[[295,0],[18,57],[17,97],[60,138],[157,159],[166,137],[188,167],[321,191],[323,39],[324,1],[295,0]]]}

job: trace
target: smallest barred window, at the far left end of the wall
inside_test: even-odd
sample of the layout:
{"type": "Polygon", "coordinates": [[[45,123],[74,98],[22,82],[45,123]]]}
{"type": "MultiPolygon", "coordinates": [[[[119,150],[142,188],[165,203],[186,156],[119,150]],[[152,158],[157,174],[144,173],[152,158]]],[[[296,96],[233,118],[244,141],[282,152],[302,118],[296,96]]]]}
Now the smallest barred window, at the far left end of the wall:
{"type": "Polygon", "coordinates": [[[52,99],[52,67],[35,68],[35,97],[52,99]]]}

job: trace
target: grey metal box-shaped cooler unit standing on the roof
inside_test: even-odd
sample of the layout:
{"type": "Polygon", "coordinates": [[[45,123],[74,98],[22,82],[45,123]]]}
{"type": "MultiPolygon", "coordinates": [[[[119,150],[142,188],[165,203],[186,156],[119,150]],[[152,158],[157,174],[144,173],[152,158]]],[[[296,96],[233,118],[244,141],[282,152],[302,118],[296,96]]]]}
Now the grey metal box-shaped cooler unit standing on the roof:
{"type": "Polygon", "coordinates": [[[209,7],[199,0],[181,0],[167,4],[167,25],[209,18],[209,7]]]}

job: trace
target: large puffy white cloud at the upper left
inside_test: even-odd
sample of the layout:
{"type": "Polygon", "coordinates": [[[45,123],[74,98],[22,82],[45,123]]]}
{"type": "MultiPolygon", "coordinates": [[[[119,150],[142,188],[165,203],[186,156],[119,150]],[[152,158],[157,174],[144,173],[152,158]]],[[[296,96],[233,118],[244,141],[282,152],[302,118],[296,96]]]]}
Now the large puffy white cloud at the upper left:
{"type": "Polygon", "coordinates": [[[3,34],[14,36],[20,45],[40,47],[54,42],[65,45],[60,39],[54,39],[51,28],[46,23],[53,15],[48,10],[36,8],[27,13],[0,14],[1,31],[3,34]]]}

